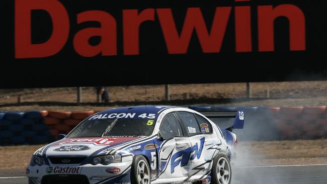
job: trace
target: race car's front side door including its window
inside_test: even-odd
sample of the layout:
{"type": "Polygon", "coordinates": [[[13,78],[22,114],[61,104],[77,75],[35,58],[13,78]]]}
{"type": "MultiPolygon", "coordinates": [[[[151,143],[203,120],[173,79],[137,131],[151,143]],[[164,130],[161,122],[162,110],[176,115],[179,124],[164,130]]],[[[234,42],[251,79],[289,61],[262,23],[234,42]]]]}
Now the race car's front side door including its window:
{"type": "Polygon", "coordinates": [[[191,143],[188,137],[184,136],[175,113],[170,113],[162,119],[159,131],[165,140],[159,151],[159,178],[188,176],[191,143]]]}

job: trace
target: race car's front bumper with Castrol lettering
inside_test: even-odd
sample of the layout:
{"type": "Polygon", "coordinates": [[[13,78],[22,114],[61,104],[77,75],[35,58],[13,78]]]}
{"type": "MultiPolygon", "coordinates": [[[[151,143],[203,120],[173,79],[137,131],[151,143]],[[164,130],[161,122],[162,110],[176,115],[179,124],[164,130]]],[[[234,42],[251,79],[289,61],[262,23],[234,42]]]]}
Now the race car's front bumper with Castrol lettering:
{"type": "Polygon", "coordinates": [[[29,165],[29,183],[123,183],[130,182],[132,161],[111,163],[109,165],[29,165]],[[80,179],[80,180],[78,180],[80,179]],[[88,182],[87,182],[88,181],[88,182]]]}

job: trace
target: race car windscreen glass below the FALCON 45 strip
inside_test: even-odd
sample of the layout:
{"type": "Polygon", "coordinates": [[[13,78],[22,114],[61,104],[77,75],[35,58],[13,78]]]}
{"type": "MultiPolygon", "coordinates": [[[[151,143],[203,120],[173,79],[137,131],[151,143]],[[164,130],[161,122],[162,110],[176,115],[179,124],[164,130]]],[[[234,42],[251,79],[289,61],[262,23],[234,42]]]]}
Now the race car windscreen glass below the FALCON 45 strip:
{"type": "Polygon", "coordinates": [[[115,118],[87,119],[66,137],[149,136],[155,119],[115,118]]]}

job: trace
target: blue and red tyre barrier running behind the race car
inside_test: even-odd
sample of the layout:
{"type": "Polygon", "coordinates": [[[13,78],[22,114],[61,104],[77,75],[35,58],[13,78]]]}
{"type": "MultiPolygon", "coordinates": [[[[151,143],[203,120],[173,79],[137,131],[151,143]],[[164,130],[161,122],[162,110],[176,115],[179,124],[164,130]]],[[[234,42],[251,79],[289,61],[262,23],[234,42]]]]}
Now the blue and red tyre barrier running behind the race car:
{"type": "MultiPolygon", "coordinates": [[[[233,132],[239,140],[291,140],[327,138],[327,108],[316,107],[220,107],[189,106],[195,111],[242,110],[244,129],[233,132]]],[[[58,134],[69,133],[77,124],[98,111],[29,111],[0,113],[0,146],[52,142],[58,134]]],[[[228,128],[233,120],[214,121],[228,128]],[[217,121],[217,122],[216,122],[217,121]]]]}

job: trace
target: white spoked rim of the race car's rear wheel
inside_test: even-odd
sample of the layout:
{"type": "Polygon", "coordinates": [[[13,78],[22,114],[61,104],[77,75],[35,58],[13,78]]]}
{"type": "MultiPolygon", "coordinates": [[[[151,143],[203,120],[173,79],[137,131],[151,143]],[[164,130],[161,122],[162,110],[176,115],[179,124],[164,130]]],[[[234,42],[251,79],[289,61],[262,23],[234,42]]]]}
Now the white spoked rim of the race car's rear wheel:
{"type": "Polygon", "coordinates": [[[230,180],[230,166],[226,158],[221,157],[218,160],[216,174],[220,184],[228,184],[230,180]]]}

